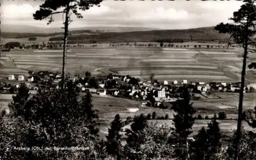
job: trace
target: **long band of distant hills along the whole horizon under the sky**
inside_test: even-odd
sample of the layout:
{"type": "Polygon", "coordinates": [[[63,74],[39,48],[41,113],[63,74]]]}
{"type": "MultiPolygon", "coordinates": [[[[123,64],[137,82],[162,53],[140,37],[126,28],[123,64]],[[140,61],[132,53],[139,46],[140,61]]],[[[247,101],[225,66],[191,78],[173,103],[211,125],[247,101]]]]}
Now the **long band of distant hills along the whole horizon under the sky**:
{"type": "MultiPolygon", "coordinates": [[[[8,25],[3,25],[8,26],[8,25]]],[[[51,41],[61,41],[63,38],[63,30],[59,32],[48,33],[46,28],[32,27],[30,33],[6,32],[3,28],[1,31],[2,38],[28,38],[28,37],[50,37],[51,41]],[[38,30],[41,32],[39,32],[38,30]],[[39,33],[34,33],[38,31],[39,33]]],[[[9,29],[9,30],[10,30],[9,29]]],[[[51,31],[54,29],[52,28],[51,31]]],[[[19,30],[20,31],[20,30],[19,30]]],[[[56,29],[57,31],[57,29],[56,29]]],[[[150,28],[132,28],[132,27],[95,27],[95,28],[73,28],[70,29],[69,43],[117,43],[117,42],[226,42],[229,38],[228,34],[218,33],[214,27],[204,27],[183,30],[159,30],[150,28]],[[101,30],[100,30],[101,29],[101,30]],[[109,29],[109,30],[108,30],[109,29]],[[110,32],[102,32],[110,31],[110,32]],[[136,31],[137,30],[137,31],[136,31]],[[138,31],[139,30],[139,31],[138,31]],[[73,34],[73,35],[72,35],[73,34]]],[[[59,42],[61,43],[61,42],[59,42]]]]}

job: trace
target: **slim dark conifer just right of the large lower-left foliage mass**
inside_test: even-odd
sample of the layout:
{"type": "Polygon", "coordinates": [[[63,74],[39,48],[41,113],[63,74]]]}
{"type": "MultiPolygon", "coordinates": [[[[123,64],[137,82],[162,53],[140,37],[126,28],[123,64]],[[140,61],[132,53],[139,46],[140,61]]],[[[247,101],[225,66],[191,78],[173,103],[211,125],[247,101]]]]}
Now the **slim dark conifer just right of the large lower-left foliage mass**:
{"type": "Polygon", "coordinates": [[[111,128],[109,128],[109,134],[106,135],[106,152],[112,156],[116,156],[117,160],[121,159],[121,128],[121,118],[119,115],[116,115],[114,121],[111,123],[111,128]]]}

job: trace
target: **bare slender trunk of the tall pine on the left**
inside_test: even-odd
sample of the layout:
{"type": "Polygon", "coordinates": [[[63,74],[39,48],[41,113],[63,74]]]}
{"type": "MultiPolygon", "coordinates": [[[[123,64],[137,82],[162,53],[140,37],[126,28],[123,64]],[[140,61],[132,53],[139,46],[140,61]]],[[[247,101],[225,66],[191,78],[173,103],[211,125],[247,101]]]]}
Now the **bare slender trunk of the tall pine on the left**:
{"type": "Polygon", "coordinates": [[[68,26],[69,26],[69,4],[66,8],[66,16],[65,16],[65,31],[64,31],[64,44],[63,44],[63,58],[62,58],[62,88],[66,88],[66,60],[67,60],[67,40],[68,40],[68,26]]]}

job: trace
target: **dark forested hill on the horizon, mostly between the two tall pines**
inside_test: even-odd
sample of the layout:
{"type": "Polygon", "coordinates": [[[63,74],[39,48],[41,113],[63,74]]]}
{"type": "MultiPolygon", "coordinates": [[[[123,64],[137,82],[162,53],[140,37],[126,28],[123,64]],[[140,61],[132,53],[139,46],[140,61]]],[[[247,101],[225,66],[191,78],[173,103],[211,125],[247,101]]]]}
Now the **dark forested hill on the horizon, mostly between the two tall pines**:
{"type": "MultiPolygon", "coordinates": [[[[52,37],[51,41],[60,41],[63,37],[52,37]]],[[[135,32],[110,32],[98,35],[70,35],[69,40],[76,43],[117,43],[117,42],[184,42],[184,41],[226,41],[228,34],[218,33],[214,27],[186,30],[152,30],[135,32]]]]}

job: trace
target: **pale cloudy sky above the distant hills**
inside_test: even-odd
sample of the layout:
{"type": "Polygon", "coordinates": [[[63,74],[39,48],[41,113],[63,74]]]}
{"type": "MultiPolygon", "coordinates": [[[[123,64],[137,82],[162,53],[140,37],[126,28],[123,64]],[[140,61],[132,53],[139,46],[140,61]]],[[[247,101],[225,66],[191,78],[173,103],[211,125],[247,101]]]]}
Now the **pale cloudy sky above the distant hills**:
{"type": "MultiPolygon", "coordinates": [[[[36,27],[62,26],[62,14],[54,16],[54,22],[34,20],[33,13],[44,0],[2,0],[1,24],[29,25],[36,27]]],[[[114,1],[105,0],[100,7],[80,11],[82,19],[72,16],[70,28],[77,27],[146,27],[159,29],[188,29],[215,26],[229,22],[243,4],[241,1],[114,1]]]]}

